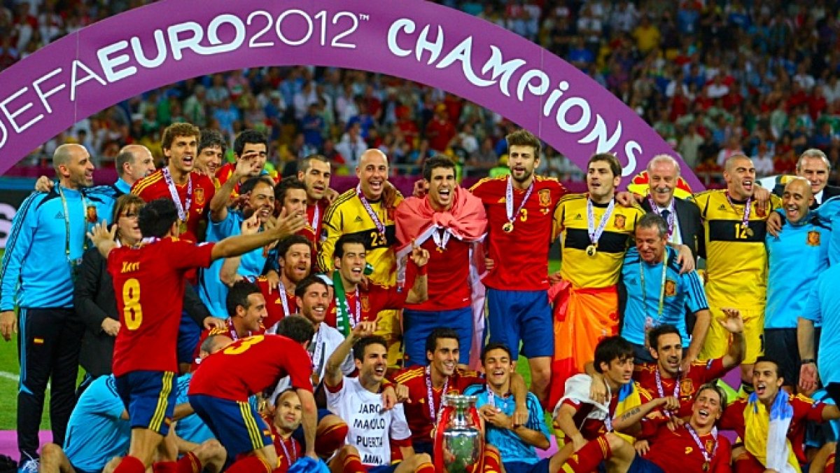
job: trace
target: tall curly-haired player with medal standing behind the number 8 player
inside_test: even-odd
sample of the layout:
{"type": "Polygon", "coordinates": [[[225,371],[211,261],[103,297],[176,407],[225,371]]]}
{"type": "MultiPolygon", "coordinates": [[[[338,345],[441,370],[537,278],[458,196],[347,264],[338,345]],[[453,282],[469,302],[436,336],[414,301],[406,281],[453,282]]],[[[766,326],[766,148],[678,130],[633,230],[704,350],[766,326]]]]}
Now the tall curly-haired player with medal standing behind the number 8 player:
{"type": "Polygon", "coordinates": [[[193,170],[200,137],[195,125],[176,123],[168,126],[160,145],[169,162],[131,188],[132,194],[146,202],[172,199],[178,210],[181,239],[189,242],[201,241],[200,228],[207,222],[208,204],[216,194],[213,181],[193,170]]]}

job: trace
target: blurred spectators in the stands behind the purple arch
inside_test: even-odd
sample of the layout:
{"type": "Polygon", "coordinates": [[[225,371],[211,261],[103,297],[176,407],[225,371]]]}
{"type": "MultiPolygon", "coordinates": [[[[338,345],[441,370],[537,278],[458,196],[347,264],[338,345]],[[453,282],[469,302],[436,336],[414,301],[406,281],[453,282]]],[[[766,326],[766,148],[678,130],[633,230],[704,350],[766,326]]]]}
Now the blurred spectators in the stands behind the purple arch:
{"type": "MultiPolygon", "coordinates": [[[[0,8],[0,71],[32,51],[131,2],[6,0],[0,8]]],[[[587,72],[643,116],[689,167],[722,183],[723,162],[753,157],[760,177],[793,173],[807,148],[840,158],[840,21],[837,3],[522,0],[443,2],[537,42],[587,72]]],[[[48,162],[79,142],[113,165],[130,143],[160,159],[160,133],[179,121],[270,136],[269,162],[283,175],[319,152],[337,174],[379,148],[391,172],[418,174],[435,153],[486,175],[513,125],[439,89],[398,77],[323,67],[265,67],[196,77],[103,110],[48,141],[24,163],[48,162]]],[[[540,172],[582,180],[568,159],[543,150],[540,172]]]]}

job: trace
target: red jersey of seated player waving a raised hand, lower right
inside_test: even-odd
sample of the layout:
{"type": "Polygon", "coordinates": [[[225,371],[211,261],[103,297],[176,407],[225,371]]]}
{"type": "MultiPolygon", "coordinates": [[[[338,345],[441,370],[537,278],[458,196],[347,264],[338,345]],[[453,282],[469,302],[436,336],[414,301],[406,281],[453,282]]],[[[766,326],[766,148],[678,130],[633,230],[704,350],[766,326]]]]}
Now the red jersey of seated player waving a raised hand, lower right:
{"type": "MultiPolygon", "coordinates": [[[[728,369],[723,367],[722,358],[696,361],[691,364],[688,375],[680,378],[680,411],[677,412],[677,417],[690,417],[694,395],[700,386],[720,378],[727,371],[728,369]]],[[[633,380],[654,396],[654,399],[659,398],[659,389],[656,386],[656,364],[637,364],[633,371],[633,380]]],[[[662,378],[662,391],[665,396],[674,396],[674,387],[673,378],[662,378]]]]}

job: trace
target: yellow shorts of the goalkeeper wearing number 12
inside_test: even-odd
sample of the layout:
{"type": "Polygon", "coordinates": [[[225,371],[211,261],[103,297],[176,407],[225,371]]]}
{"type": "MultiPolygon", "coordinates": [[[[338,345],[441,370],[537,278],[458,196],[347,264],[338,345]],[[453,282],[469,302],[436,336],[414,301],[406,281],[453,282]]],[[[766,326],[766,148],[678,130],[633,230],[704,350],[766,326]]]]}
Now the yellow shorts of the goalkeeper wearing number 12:
{"type": "MultiPolygon", "coordinates": [[[[729,349],[731,334],[717,322],[724,317],[721,306],[714,305],[710,300],[709,312],[711,312],[711,324],[709,332],[706,333],[706,343],[700,351],[700,359],[721,358],[729,349]]],[[[743,317],[743,339],[747,344],[742,363],[753,364],[759,356],[764,354],[764,306],[741,309],[741,316],[743,317]]]]}

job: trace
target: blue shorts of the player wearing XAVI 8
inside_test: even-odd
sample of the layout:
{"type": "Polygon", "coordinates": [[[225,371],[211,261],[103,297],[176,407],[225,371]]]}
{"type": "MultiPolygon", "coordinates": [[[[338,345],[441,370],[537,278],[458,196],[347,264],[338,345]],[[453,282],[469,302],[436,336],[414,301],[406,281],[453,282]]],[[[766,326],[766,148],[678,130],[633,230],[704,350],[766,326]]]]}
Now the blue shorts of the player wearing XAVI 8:
{"type": "Polygon", "coordinates": [[[175,412],[178,385],[171,371],[131,371],[116,378],[117,393],[129,412],[131,428],[166,435],[175,412]]]}

